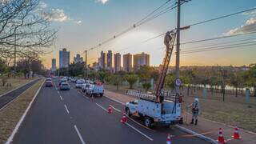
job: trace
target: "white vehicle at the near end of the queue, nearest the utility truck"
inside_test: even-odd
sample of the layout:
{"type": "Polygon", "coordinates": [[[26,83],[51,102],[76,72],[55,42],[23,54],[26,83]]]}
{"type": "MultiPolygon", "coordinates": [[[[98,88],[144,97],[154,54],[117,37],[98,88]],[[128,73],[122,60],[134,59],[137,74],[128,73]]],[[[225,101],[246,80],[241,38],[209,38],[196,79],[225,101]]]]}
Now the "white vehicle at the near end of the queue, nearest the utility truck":
{"type": "Polygon", "coordinates": [[[104,87],[102,84],[90,84],[90,87],[86,89],[86,94],[90,96],[100,96],[104,94],[104,87]]]}

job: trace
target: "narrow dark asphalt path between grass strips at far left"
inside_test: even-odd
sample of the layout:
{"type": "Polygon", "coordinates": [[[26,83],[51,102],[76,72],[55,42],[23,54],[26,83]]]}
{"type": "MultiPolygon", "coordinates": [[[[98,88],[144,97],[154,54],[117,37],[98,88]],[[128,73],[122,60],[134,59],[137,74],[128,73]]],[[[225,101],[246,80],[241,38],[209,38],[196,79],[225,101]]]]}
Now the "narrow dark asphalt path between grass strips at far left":
{"type": "Polygon", "coordinates": [[[26,85],[24,85],[22,87],[19,87],[16,90],[11,91],[8,94],[3,94],[0,97],[0,109],[3,106],[6,106],[6,104],[8,104],[9,102],[13,101],[14,98],[17,98],[20,94],[23,93],[23,91],[25,91],[26,89],[30,88],[30,86],[33,86],[38,81],[39,81],[39,79],[36,79],[36,80],[34,80],[32,82],[27,83],[26,85]]]}

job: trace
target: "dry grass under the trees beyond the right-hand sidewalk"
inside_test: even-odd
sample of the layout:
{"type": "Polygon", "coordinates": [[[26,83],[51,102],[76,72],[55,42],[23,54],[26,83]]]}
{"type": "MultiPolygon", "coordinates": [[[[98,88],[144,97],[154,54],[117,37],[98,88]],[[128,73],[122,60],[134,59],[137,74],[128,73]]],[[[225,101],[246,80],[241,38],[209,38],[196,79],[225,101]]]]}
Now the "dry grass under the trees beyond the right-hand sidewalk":
{"type": "MultiPolygon", "coordinates": [[[[105,88],[119,94],[125,94],[128,90],[127,86],[120,86],[119,90],[111,85],[106,85],[105,88]]],[[[186,94],[186,90],[182,91],[182,94],[186,94]]],[[[184,97],[184,104],[193,102],[194,95],[199,98],[202,107],[201,117],[256,132],[256,98],[250,97],[250,103],[246,104],[244,96],[234,97],[232,94],[226,94],[226,101],[222,102],[222,94],[208,93],[208,96],[203,98],[202,90],[197,90],[193,96],[184,97]]]]}

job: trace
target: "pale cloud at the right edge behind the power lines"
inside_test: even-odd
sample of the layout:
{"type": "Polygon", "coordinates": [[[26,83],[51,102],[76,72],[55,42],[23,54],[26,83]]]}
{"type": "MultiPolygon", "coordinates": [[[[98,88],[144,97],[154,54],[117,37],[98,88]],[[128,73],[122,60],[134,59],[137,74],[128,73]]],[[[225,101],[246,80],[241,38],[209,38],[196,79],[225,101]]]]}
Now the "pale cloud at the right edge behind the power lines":
{"type": "Polygon", "coordinates": [[[245,25],[229,30],[225,35],[245,34],[253,31],[256,31],[256,18],[249,18],[245,25]]]}

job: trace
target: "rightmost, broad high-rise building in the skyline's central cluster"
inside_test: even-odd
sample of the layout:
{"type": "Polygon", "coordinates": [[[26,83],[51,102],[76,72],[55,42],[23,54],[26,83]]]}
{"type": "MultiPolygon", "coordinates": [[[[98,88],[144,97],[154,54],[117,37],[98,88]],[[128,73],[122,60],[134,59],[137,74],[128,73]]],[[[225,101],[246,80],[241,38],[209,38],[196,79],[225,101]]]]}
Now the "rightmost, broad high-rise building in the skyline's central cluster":
{"type": "Polygon", "coordinates": [[[138,70],[140,66],[150,66],[150,54],[134,54],[134,70],[138,70]]]}

